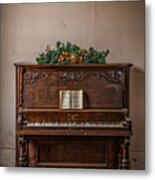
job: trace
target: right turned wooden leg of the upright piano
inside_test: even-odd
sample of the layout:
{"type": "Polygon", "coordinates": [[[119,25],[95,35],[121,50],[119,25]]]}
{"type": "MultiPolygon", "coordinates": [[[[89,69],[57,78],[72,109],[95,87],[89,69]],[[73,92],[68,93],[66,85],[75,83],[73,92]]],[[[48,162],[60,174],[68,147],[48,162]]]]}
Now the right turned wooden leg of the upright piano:
{"type": "Polygon", "coordinates": [[[121,169],[129,169],[129,138],[124,138],[121,144],[121,169]]]}

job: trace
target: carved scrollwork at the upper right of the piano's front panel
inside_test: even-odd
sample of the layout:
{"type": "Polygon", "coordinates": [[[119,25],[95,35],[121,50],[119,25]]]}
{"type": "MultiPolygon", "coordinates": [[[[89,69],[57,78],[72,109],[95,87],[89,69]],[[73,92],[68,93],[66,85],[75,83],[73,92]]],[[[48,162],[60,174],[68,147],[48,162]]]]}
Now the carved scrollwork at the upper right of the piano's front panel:
{"type": "Polygon", "coordinates": [[[101,72],[96,72],[97,78],[106,78],[110,82],[113,82],[115,84],[122,83],[122,71],[101,71],[101,72]]]}

